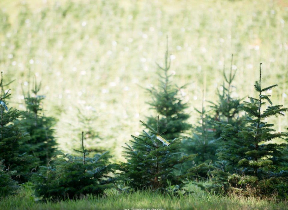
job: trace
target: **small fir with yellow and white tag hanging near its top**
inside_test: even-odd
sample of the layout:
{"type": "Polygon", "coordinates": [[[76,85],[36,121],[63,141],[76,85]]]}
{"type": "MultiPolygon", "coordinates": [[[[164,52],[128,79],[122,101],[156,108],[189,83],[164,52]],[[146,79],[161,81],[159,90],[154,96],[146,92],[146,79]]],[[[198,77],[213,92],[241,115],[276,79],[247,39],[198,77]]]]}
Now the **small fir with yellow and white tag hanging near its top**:
{"type": "Polygon", "coordinates": [[[182,138],[174,140],[162,138],[159,116],[157,131],[146,123],[140,122],[149,129],[149,133],[143,130],[144,135],[131,136],[133,138],[130,140],[131,146],[126,143],[124,157],[127,162],[119,165],[119,170],[122,172],[119,174],[119,179],[122,183],[128,184],[132,190],[177,192],[186,184],[186,174],[176,175],[175,170],[180,171],[176,166],[191,160],[196,155],[179,158],[182,138]]]}

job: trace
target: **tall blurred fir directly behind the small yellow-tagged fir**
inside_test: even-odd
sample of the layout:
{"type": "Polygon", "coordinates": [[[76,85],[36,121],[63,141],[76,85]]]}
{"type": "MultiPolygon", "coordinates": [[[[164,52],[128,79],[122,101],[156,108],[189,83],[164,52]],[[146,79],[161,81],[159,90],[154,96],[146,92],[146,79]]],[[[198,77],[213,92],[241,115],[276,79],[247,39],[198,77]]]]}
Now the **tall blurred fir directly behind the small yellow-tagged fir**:
{"type": "MultiPolygon", "coordinates": [[[[179,88],[172,84],[171,77],[173,75],[169,75],[170,62],[171,60],[168,61],[167,44],[165,66],[161,67],[158,64],[159,69],[162,71],[162,73],[158,74],[160,77],[159,85],[147,90],[152,96],[152,101],[148,104],[151,105],[151,109],[154,109],[158,115],[162,116],[159,119],[159,124],[166,129],[163,131],[164,136],[169,140],[173,140],[190,129],[191,125],[186,122],[190,117],[189,114],[184,112],[188,106],[183,102],[183,97],[180,93],[181,88],[184,88],[184,86],[179,88]]],[[[155,122],[157,122],[155,117],[148,117],[147,124],[152,128],[157,126],[155,122]]]]}

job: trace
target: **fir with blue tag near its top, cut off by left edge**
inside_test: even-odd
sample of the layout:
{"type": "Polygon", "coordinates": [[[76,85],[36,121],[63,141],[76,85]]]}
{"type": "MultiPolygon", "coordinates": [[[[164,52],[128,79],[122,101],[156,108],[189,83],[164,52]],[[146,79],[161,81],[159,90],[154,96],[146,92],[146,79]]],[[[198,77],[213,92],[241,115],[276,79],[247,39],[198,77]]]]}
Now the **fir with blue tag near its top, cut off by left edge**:
{"type": "Polygon", "coordinates": [[[16,120],[25,112],[9,107],[7,99],[11,95],[10,90],[4,92],[3,89],[7,85],[3,84],[1,72],[0,161],[6,167],[6,170],[16,171],[17,174],[13,175],[12,178],[22,183],[29,180],[30,170],[37,159],[23,151],[24,143],[29,139],[29,134],[20,130],[16,120]]]}

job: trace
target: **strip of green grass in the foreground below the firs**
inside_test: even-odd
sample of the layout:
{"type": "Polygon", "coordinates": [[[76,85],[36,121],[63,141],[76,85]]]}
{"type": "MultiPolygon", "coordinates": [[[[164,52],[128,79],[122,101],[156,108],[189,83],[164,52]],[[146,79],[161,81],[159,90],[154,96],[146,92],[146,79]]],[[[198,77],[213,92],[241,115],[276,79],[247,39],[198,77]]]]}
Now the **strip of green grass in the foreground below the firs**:
{"type": "Polygon", "coordinates": [[[193,185],[191,189],[194,193],[186,196],[164,196],[149,191],[126,194],[109,190],[102,198],[87,196],[77,201],[42,202],[35,199],[32,190],[26,186],[18,195],[8,196],[1,200],[0,209],[288,209],[286,201],[275,202],[275,200],[251,197],[220,197],[207,194],[193,185]]]}

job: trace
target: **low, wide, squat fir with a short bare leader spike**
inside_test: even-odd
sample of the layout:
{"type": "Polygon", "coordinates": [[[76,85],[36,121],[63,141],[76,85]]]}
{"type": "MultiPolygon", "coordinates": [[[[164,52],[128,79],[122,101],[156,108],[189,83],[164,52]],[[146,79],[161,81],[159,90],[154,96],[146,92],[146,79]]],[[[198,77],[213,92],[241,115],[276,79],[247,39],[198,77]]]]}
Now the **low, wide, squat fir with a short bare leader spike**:
{"type": "Polygon", "coordinates": [[[87,194],[101,196],[105,189],[114,186],[114,178],[109,174],[115,166],[110,164],[109,152],[89,158],[83,132],[81,146],[81,150],[75,151],[82,156],[58,151],[53,166],[40,166],[39,173],[32,176],[36,196],[52,200],[81,199],[87,194]]]}

